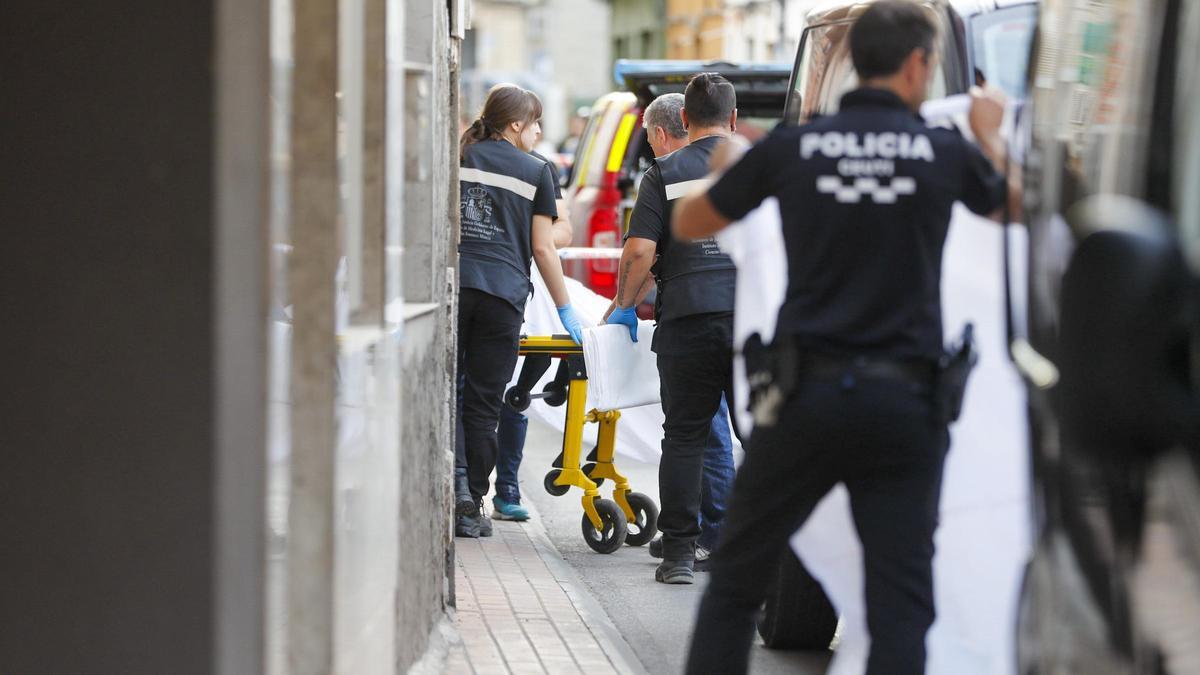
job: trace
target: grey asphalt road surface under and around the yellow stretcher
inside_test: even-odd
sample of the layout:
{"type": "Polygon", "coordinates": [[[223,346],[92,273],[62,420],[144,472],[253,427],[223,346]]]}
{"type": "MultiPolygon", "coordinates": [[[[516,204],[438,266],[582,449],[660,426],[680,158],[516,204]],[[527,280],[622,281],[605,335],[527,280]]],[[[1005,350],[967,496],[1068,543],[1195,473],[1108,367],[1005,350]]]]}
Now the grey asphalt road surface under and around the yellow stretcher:
{"type": "MultiPolygon", "coordinates": [[[[653,675],[682,673],[707,574],[697,573],[696,584],[691,586],[667,586],[654,581],[656,561],[644,546],[624,546],[611,555],[589,549],[581,533],[580,490],[553,497],[541,486],[560,446],[562,435],[557,430],[529,420],[521,465],[522,501],[533,502],[554,546],[587,584],[646,669],[653,675]]],[[[658,501],[658,465],[618,455],[617,466],[635,491],[658,501]]],[[[610,484],[602,485],[600,491],[605,498],[611,498],[610,484]]],[[[750,671],[756,675],[816,675],[824,673],[828,663],[828,652],[780,652],[758,644],[751,655],[750,671]]]]}

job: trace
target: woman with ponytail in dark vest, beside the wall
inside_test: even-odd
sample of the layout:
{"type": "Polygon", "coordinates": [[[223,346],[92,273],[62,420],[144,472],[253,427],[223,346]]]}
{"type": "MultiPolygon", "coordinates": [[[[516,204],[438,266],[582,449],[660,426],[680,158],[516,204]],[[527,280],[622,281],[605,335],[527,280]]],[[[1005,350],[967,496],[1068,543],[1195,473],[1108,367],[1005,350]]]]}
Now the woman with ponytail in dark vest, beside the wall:
{"type": "Polygon", "coordinates": [[[540,119],[541,101],[534,92],[499,84],[458,145],[457,461],[467,474],[467,490],[455,490],[460,537],[492,533],[484,496],[496,468],[504,386],[516,368],[524,304],[533,289],[530,261],[566,333],[576,342],[582,339],[554,249],[554,180],[547,163],[529,154],[541,133],[540,119]]]}

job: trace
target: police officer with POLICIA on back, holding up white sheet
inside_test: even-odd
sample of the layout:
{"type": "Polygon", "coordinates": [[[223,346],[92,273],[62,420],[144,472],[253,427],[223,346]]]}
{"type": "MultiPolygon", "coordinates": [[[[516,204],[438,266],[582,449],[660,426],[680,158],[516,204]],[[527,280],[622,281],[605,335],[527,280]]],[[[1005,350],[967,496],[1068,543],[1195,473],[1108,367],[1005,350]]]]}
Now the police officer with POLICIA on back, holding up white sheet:
{"type": "MultiPolygon", "coordinates": [[[[768,571],[836,483],[863,544],[866,671],[924,671],[949,442],[934,402],[942,246],[955,201],[991,214],[1004,196],[977,147],[916,114],[935,43],[917,2],[872,4],[851,29],[862,86],[840,112],[775,130],[676,208],[676,234],[703,238],[779,199],[788,282],[773,348],[796,357],[790,372],[776,369],[791,390],[776,422],[755,429],[734,480],[688,673],[745,673],[768,571]]],[[[976,96],[972,127],[992,160],[1002,112],[976,96]]]]}

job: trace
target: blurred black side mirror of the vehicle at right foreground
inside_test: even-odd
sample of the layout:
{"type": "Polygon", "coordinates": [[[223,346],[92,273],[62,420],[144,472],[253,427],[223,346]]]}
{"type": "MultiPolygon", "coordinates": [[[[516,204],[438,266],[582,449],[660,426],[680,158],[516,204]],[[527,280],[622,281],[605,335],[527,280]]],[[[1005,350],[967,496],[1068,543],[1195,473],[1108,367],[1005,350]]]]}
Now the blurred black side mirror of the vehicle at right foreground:
{"type": "Polygon", "coordinates": [[[1190,275],[1165,215],[1099,196],[1067,214],[1079,245],[1062,279],[1055,389],[1063,431],[1100,452],[1152,453],[1183,441],[1190,275]]]}

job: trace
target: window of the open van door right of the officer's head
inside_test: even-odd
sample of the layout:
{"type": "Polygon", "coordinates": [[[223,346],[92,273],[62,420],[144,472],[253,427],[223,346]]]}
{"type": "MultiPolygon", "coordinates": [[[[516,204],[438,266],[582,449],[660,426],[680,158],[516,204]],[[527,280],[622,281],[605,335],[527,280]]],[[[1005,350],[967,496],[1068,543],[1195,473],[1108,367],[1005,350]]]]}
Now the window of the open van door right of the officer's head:
{"type": "Polygon", "coordinates": [[[976,84],[989,84],[1010,97],[1025,97],[1025,72],[1030,40],[1037,22],[1037,5],[1020,5],[984,12],[971,19],[971,54],[976,84]]]}

